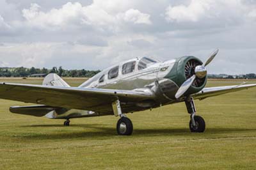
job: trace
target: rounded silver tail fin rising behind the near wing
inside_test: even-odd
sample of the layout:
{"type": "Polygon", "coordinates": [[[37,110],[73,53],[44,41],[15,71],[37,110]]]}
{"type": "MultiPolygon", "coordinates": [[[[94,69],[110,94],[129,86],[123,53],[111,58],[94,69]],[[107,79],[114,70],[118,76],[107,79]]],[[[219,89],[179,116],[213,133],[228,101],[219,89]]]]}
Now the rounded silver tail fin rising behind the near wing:
{"type": "Polygon", "coordinates": [[[70,87],[67,82],[63,81],[59,75],[56,73],[49,73],[43,81],[43,85],[45,86],[62,86],[62,87],[70,87]]]}

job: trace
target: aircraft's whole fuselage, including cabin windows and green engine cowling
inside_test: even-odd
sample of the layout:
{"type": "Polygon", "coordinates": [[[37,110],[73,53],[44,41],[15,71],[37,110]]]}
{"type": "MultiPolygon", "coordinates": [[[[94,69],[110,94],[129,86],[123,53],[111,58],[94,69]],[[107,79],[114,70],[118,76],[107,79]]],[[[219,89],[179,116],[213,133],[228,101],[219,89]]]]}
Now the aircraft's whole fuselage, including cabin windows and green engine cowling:
{"type": "MultiPolygon", "coordinates": [[[[147,57],[134,58],[102,70],[102,72],[97,73],[97,75],[81,84],[79,88],[152,91],[155,95],[153,102],[145,101],[140,104],[131,103],[125,105],[127,108],[131,107],[132,109],[126,109],[124,112],[142,111],[159,107],[160,105],[179,102],[175,98],[175,93],[177,93],[181,84],[193,75],[196,65],[201,64],[202,62],[193,56],[185,56],[164,62],[147,57]]],[[[206,81],[207,78],[196,79],[193,86],[189,88],[188,93],[200,91],[204,88],[206,81]]],[[[81,116],[97,115],[96,112],[73,109],[61,115],[70,117],[72,114],[75,115],[73,117],[77,117],[79,114],[81,116]]]]}

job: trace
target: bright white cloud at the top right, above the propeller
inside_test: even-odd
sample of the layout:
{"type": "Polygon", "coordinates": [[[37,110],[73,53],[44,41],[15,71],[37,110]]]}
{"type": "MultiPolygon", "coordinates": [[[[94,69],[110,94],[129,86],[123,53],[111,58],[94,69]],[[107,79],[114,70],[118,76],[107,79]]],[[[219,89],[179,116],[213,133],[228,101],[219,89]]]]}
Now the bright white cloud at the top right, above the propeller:
{"type": "Polygon", "coordinates": [[[226,22],[243,19],[244,13],[250,10],[241,0],[191,0],[188,5],[168,6],[165,19],[168,22],[198,22],[214,19],[226,22]]]}

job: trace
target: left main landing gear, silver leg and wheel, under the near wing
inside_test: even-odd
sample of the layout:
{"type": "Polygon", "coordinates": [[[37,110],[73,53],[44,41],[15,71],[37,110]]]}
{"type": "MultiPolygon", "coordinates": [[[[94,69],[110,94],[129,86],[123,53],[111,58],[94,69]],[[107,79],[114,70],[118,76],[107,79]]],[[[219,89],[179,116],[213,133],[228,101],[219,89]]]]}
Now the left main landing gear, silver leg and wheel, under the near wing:
{"type": "Polygon", "coordinates": [[[119,100],[112,103],[115,116],[120,116],[116,123],[116,131],[118,135],[131,135],[133,131],[132,121],[122,114],[119,100]]]}

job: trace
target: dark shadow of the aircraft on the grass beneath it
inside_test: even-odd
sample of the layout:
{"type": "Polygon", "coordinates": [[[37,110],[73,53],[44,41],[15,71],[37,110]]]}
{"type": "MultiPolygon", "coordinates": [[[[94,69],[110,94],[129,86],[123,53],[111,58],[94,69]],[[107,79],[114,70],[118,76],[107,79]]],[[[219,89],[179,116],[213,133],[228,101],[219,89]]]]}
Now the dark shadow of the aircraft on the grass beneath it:
{"type": "MultiPolygon", "coordinates": [[[[28,125],[23,127],[63,127],[63,125],[28,125]]],[[[102,127],[100,124],[89,124],[89,125],[70,125],[70,127],[83,127],[83,128],[93,128],[95,130],[86,132],[76,132],[76,130],[71,130],[72,132],[60,132],[60,134],[33,134],[31,136],[25,136],[28,139],[76,139],[76,138],[98,138],[106,139],[106,137],[125,137],[116,135],[115,127],[102,127]]],[[[69,128],[69,127],[63,127],[69,128]]],[[[256,128],[207,128],[204,134],[225,134],[227,132],[244,132],[244,131],[256,131],[256,128]]],[[[154,136],[154,135],[191,135],[188,128],[147,128],[140,129],[134,128],[132,137],[136,136],[154,136]]]]}

